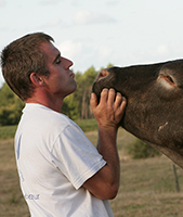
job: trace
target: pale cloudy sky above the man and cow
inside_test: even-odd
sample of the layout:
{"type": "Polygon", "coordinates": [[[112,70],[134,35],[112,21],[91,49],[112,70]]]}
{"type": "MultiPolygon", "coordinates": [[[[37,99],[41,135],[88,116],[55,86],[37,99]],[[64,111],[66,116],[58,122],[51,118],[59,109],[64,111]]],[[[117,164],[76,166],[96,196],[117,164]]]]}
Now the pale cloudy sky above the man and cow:
{"type": "Polygon", "coordinates": [[[0,50],[43,31],[75,73],[182,59],[182,0],[0,0],[0,50]]]}

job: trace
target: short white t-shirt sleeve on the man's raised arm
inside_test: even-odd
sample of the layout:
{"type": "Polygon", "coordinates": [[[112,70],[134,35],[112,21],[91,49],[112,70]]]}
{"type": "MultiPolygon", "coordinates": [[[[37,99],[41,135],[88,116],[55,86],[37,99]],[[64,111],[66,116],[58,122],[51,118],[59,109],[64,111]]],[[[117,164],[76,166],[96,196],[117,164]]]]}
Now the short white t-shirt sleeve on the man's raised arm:
{"type": "Polygon", "coordinates": [[[75,189],[97,173],[106,162],[78,126],[67,126],[57,138],[55,164],[75,189]]]}

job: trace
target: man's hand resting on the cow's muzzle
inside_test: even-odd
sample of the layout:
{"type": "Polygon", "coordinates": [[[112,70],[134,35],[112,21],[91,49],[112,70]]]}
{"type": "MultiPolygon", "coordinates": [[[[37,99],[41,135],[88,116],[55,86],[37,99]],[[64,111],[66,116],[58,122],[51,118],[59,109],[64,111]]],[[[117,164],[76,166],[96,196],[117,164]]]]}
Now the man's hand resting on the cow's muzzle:
{"type": "Polygon", "coordinates": [[[101,92],[100,103],[97,104],[96,95],[92,93],[90,104],[99,127],[116,128],[123,116],[127,100],[114,89],[105,88],[101,92]]]}

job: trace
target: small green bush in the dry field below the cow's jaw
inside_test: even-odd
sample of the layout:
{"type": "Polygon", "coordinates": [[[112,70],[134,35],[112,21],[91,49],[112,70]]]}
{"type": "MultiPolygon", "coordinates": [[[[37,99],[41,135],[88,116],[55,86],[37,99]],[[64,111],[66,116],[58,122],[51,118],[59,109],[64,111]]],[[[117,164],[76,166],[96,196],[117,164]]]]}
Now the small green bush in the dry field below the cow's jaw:
{"type": "Polygon", "coordinates": [[[136,139],[136,141],[129,146],[128,153],[132,156],[132,158],[147,158],[160,155],[157,150],[140,139],[136,139]]]}

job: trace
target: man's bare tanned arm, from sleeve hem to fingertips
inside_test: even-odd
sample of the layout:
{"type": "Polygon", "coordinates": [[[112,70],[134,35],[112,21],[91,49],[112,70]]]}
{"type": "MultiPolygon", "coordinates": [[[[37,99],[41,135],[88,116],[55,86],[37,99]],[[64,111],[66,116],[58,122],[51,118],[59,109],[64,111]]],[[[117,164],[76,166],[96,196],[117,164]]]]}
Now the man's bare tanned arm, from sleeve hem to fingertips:
{"type": "Polygon", "coordinates": [[[99,124],[97,150],[107,164],[88,179],[83,187],[96,197],[109,200],[116,196],[119,189],[120,163],[116,138],[127,102],[120,93],[116,94],[114,89],[104,89],[100,104],[94,93],[90,103],[99,124]]]}

